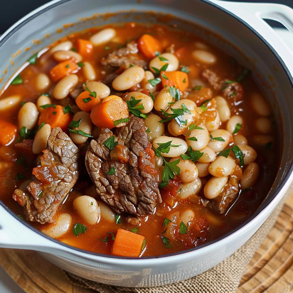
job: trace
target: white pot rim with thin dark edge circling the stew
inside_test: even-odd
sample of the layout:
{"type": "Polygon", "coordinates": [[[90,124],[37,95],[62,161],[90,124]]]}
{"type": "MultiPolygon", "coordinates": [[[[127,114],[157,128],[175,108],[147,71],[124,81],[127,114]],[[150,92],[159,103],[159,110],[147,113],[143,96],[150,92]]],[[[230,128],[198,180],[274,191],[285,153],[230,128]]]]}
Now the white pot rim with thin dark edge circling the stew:
{"type": "MultiPolygon", "coordinates": [[[[52,0],[48,2],[47,4],[44,4],[40,6],[39,8],[36,8],[32,12],[28,13],[26,16],[21,18],[19,21],[17,21],[14,25],[12,25],[3,35],[0,37],[0,47],[3,46],[6,42],[6,40],[13,35],[18,29],[20,29],[23,25],[28,23],[30,20],[34,19],[35,17],[39,16],[40,14],[56,7],[61,4],[64,4],[66,2],[69,2],[71,0],[52,0]]],[[[262,35],[260,35],[251,25],[246,23],[243,19],[240,17],[236,16],[234,13],[231,11],[227,10],[226,8],[223,8],[222,6],[213,3],[209,0],[193,0],[193,1],[200,1],[203,2],[209,6],[213,6],[217,8],[220,11],[223,11],[224,13],[233,16],[234,19],[238,22],[240,22],[242,25],[245,25],[246,28],[248,28],[251,33],[255,34],[267,47],[268,49],[274,54],[275,58],[278,60],[282,68],[284,69],[290,84],[293,88],[293,78],[292,75],[289,72],[289,69],[287,68],[285,62],[282,60],[280,55],[276,52],[276,50],[270,45],[270,43],[265,40],[262,35]]],[[[91,251],[86,251],[80,248],[76,248],[73,246],[69,246],[65,243],[62,243],[56,239],[52,239],[49,236],[46,236],[43,234],[41,231],[37,230],[35,227],[31,226],[28,222],[20,219],[11,209],[8,208],[7,205],[4,204],[0,200],[0,205],[6,209],[7,212],[9,212],[14,218],[16,218],[18,221],[21,221],[25,226],[27,226],[29,229],[33,230],[37,234],[39,234],[42,237],[47,238],[48,240],[54,242],[57,244],[57,246],[62,246],[63,248],[67,248],[66,250],[74,255],[81,256],[83,258],[90,258],[93,259],[95,258],[97,261],[101,263],[111,263],[111,264],[123,264],[123,265],[132,265],[132,266],[141,266],[141,265],[147,265],[147,263],[155,261],[155,259],[160,259],[160,263],[166,263],[167,261],[172,260],[183,260],[184,259],[190,259],[191,255],[190,253],[199,253],[202,251],[204,248],[206,250],[211,250],[215,245],[219,244],[220,242],[222,243],[223,241],[229,241],[232,236],[235,236],[235,234],[241,234],[245,229],[248,229],[248,226],[252,222],[257,222],[259,218],[261,218],[261,215],[264,214],[271,206],[277,205],[277,203],[280,200],[280,197],[282,197],[282,192],[285,189],[285,185],[289,185],[290,180],[293,178],[293,161],[291,162],[289,168],[287,168],[287,174],[276,189],[276,191],[271,195],[270,199],[266,200],[264,203],[260,205],[260,208],[255,211],[254,214],[251,215],[245,222],[234,228],[233,230],[229,231],[228,233],[224,234],[223,236],[214,239],[213,241],[210,241],[208,243],[202,244],[200,246],[197,246],[195,248],[190,248],[188,250],[184,251],[179,251],[176,253],[170,253],[170,254],[165,254],[165,255],[159,255],[159,256],[149,256],[149,257],[141,257],[141,258],[126,258],[126,257],[119,257],[119,256],[113,256],[113,255],[106,255],[106,254],[101,254],[101,253],[95,253],[91,251]],[[289,180],[290,179],[290,180],[289,180]],[[288,184],[286,184],[288,183],[288,184]]],[[[287,186],[288,187],[288,186],[287,186]]],[[[284,191],[285,193],[285,191],[284,191]]],[[[64,249],[60,249],[64,250],[64,249]]],[[[157,262],[156,262],[157,263],[157,262]]]]}

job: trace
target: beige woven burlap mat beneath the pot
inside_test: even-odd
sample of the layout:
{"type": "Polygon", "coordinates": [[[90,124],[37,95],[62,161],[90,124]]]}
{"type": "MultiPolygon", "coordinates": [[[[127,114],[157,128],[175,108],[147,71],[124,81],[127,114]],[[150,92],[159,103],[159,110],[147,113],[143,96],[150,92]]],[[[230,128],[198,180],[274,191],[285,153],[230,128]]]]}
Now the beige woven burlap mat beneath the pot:
{"type": "Polygon", "coordinates": [[[272,226],[274,226],[283,204],[292,192],[292,189],[291,185],[270,217],[241,248],[214,268],[188,280],[161,287],[126,288],[89,281],[69,272],[65,272],[65,274],[74,285],[92,289],[99,293],[234,293],[238,288],[246,265],[270,229],[272,229],[272,226]]]}

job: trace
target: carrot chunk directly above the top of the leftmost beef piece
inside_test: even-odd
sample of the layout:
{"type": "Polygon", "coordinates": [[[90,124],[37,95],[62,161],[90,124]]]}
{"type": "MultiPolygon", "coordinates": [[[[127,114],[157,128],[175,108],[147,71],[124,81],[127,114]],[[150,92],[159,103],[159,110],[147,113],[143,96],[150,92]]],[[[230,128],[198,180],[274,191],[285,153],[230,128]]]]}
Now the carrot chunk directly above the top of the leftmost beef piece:
{"type": "Polygon", "coordinates": [[[64,114],[63,107],[56,105],[54,107],[47,107],[40,115],[38,124],[41,125],[42,122],[45,124],[50,124],[51,128],[60,127],[63,131],[66,131],[71,121],[71,116],[69,112],[64,114]]]}

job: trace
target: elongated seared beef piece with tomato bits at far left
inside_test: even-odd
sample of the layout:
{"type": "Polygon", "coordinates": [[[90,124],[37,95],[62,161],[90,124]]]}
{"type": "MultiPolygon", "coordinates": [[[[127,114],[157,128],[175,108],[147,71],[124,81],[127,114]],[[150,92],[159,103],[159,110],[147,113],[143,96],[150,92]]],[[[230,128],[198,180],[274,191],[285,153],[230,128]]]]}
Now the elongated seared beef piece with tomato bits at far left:
{"type": "Polygon", "coordinates": [[[34,181],[13,193],[13,199],[26,207],[26,219],[41,224],[51,222],[79,175],[79,149],[61,128],[52,130],[48,145],[41,166],[33,169],[34,181]]]}

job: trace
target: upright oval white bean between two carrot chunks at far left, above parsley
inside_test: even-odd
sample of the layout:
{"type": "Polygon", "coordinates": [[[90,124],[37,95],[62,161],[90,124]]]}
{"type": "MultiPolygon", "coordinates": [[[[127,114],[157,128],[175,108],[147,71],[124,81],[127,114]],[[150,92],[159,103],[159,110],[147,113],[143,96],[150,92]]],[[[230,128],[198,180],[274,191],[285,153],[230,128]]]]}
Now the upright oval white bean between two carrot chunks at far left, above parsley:
{"type": "Polygon", "coordinates": [[[18,112],[18,127],[33,129],[38,122],[39,111],[37,106],[32,102],[25,103],[18,112]]]}

